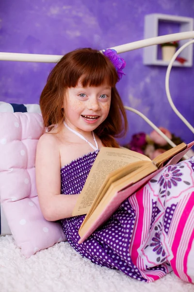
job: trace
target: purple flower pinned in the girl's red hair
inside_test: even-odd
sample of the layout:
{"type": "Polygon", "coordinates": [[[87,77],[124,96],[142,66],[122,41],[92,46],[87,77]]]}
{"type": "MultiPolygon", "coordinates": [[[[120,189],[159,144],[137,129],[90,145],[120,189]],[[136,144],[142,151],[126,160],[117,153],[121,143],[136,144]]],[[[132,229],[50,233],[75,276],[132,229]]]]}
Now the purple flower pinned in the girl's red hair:
{"type": "Polygon", "coordinates": [[[123,73],[122,69],[125,68],[126,62],[123,58],[121,58],[119,55],[117,55],[117,52],[113,49],[107,49],[102,52],[105,56],[107,56],[110,61],[113,63],[114,67],[116,68],[116,72],[118,74],[119,80],[125,75],[123,73]]]}

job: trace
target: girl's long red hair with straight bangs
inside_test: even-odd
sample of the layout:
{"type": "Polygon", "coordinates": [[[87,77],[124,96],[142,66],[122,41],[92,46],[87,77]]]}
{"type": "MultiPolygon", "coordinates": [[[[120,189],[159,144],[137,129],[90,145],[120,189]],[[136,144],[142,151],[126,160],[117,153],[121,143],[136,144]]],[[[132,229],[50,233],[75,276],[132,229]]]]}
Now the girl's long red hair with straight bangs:
{"type": "Polygon", "coordinates": [[[49,73],[47,83],[40,96],[40,109],[45,127],[63,125],[65,112],[62,109],[65,89],[82,86],[111,86],[111,106],[106,120],[95,129],[104,146],[118,147],[114,138],[126,134],[128,123],[126,112],[115,88],[118,81],[116,69],[108,57],[90,48],[77,49],[64,55],[49,73]]]}

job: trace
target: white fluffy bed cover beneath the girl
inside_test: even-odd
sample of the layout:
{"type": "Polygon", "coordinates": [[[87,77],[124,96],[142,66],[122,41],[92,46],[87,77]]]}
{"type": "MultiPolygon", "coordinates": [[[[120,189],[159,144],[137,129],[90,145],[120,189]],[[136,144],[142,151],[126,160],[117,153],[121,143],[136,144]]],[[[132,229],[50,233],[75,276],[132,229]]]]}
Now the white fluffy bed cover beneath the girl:
{"type": "Polygon", "coordinates": [[[67,242],[26,259],[12,236],[0,237],[0,292],[194,292],[171,273],[146,284],[82,258],[67,242]]]}

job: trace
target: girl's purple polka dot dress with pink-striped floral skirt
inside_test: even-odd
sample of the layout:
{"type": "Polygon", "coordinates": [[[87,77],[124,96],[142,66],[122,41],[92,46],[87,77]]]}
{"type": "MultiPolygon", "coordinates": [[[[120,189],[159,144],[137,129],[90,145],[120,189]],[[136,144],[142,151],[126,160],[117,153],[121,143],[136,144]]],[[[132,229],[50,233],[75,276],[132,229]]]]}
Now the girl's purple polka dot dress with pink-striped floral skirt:
{"type": "MultiPolygon", "coordinates": [[[[62,194],[81,193],[98,151],[61,168],[62,194]]],[[[192,187],[194,159],[169,165],[125,200],[83,243],[78,244],[78,231],[85,215],[62,219],[64,233],[81,256],[100,266],[120,270],[144,282],[152,282],[174,270],[180,278],[191,282],[188,267],[194,231],[194,219],[190,218],[194,212],[192,187]],[[181,234],[186,232],[185,228],[188,240],[183,242],[181,234]]]]}

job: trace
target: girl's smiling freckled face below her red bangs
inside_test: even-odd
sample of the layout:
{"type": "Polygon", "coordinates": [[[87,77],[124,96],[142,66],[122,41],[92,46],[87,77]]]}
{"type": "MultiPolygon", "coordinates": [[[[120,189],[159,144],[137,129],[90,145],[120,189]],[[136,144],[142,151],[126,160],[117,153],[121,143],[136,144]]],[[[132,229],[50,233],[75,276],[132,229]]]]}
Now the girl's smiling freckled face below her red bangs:
{"type": "Polygon", "coordinates": [[[93,131],[108,116],[111,105],[111,86],[83,88],[81,82],[65,91],[66,123],[78,131],[93,131]]]}

